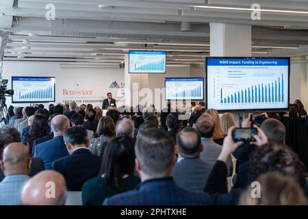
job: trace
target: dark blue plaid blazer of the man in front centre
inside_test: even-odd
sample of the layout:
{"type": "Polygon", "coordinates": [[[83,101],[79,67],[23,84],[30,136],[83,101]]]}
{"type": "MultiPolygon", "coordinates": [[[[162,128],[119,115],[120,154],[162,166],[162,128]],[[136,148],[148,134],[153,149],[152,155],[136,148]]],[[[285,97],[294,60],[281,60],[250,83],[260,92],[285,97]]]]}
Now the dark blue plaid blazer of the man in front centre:
{"type": "Polygon", "coordinates": [[[183,190],[168,177],[144,181],[133,191],[106,198],[103,205],[210,205],[210,198],[183,190]]]}

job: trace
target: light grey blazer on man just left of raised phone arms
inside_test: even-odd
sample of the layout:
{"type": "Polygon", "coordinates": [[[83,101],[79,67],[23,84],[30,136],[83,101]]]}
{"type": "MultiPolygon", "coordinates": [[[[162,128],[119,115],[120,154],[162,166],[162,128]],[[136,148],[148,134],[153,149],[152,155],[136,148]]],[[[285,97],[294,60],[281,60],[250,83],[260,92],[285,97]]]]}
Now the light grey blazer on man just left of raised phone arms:
{"type": "MultiPolygon", "coordinates": [[[[204,146],[204,149],[201,152],[200,158],[203,160],[203,162],[209,164],[211,168],[213,168],[221,153],[222,146],[214,142],[212,138],[201,138],[201,142],[204,146]]],[[[233,172],[233,164],[231,157],[229,157],[227,161],[227,170],[228,170],[228,177],[230,177],[233,172]]]]}

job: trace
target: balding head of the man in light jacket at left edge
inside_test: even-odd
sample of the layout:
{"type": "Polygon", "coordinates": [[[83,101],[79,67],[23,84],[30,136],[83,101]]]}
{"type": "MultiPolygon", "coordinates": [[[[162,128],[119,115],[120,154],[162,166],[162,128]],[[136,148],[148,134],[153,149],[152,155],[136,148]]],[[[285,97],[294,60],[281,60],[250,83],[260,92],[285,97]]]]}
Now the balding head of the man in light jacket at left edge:
{"type": "Polygon", "coordinates": [[[29,151],[22,143],[11,143],[3,151],[1,161],[5,177],[9,175],[29,175],[29,151]]]}

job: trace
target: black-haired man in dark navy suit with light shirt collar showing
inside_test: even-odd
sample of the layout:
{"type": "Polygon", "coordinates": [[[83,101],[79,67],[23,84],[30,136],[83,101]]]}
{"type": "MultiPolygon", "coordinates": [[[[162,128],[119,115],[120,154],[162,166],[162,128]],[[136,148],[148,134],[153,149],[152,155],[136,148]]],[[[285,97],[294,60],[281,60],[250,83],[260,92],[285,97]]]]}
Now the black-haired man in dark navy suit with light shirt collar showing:
{"type": "Polygon", "coordinates": [[[68,190],[81,191],[86,181],[99,174],[101,158],[89,151],[88,132],[84,127],[67,129],[64,142],[70,155],[53,162],[53,169],[62,173],[68,190]]]}

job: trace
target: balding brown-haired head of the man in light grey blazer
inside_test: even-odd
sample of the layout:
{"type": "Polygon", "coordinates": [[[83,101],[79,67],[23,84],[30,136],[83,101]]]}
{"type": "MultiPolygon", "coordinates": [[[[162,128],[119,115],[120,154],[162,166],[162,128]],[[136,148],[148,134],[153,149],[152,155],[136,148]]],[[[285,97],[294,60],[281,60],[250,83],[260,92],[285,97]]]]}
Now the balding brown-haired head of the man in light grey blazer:
{"type": "Polygon", "coordinates": [[[196,129],[203,138],[213,137],[215,120],[209,114],[202,114],[196,121],[196,129]]]}

